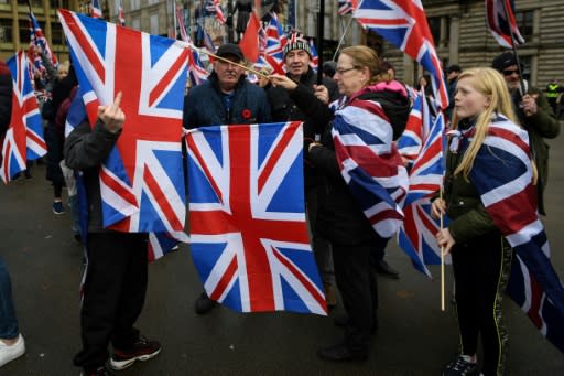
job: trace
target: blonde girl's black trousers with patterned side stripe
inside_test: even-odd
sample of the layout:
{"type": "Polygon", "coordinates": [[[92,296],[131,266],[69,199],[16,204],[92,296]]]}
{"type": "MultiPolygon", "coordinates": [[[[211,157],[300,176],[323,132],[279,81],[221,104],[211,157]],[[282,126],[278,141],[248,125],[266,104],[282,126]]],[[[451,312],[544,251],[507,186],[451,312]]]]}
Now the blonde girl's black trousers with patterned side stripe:
{"type": "Polygon", "coordinates": [[[501,322],[500,294],[509,278],[511,248],[501,235],[492,234],[455,245],[452,255],[462,354],[477,353],[479,334],[484,345],[482,373],[501,375],[507,333],[501,322]]]}

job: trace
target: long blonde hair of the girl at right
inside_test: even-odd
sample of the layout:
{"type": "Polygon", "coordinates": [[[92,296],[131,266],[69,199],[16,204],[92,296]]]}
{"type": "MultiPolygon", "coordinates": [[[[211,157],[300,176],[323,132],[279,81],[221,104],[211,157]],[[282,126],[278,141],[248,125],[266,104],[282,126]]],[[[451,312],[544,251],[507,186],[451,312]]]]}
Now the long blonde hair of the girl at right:
{"type": "MultiPolygon", "coordinates": [[[[506,80],[499,72],[487,67],[471,68],[464,71],[458,76],[458,82],[463,78],[469,79],[474,89],[478,90],[490,100],[489,107],[478,115],[474,138],[464,153],[460,164],[454,171],[455,175],[462,172],[464,178],[468,179],[474,161],[476,160],[476,154],[488,133],[488,127],[494,114],[497,112],[503,115],[516,125],[519,125],[519,121],[513,112],[513,108],[511,107],[511,97],[509,95],[506,80]]],[[[454,111],[453,129],[458,128],[459,120],[460,119],[456,116],[456,111],[454,111]]],[[[536,168],[534,162],[531,162],[531,164],[533,170],[533,182],[536,182],[536,168]]]]}

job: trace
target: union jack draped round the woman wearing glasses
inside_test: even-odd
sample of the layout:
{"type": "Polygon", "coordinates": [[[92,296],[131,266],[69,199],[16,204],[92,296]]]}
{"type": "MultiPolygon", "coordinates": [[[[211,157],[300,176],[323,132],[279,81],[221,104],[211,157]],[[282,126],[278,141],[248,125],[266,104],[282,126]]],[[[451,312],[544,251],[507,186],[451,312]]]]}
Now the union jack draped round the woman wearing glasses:
{"type": "MultiPolygon", "coordinates": [[[[380,86],[405,92],[398,82],[380,86]]],[[[350,98],[335,111],[332,135],[340,173],[350,192],[372,228],[384,238],[391,237],[403,219],[409,182],[382,107],[373,100],[350,98]]]]}

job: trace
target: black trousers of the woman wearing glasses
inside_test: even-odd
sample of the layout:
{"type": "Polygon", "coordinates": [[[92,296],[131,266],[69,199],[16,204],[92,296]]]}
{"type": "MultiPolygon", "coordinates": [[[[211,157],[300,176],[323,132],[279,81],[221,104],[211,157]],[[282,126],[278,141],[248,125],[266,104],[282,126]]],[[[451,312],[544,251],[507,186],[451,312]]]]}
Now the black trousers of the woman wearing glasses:
{"type": "Polygon", "coordinates": [[[388,239],[379,240],[382,244],[332,245],[335,279],[348,315],[345,344],[356,354],[368,353],[371,330],[378,325],[378,286],[369,258],[375,246],[386,247],[388,243],[388,239]]]}

